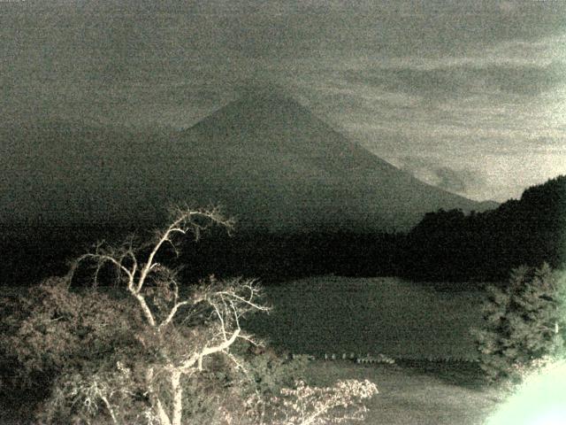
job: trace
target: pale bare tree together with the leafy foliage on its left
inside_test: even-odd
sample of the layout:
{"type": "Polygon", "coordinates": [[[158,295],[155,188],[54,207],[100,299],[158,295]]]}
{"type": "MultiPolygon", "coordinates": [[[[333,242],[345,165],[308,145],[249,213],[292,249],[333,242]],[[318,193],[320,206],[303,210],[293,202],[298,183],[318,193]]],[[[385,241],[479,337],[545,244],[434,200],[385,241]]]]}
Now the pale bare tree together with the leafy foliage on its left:
{"type": "MultiPolygon", "coordinates": [[[[34,307],[19,334],[19,342],[27,344],[19,345],[22,352],[25,348],[29,356],[59,353],[62,368],[68,359],[88,358],[61,374],[53,392],[55,405],[71,403],[74,411],[80,406],[84,416],[105,410],[111,422],[119,424],[132,421],[131,412],[124,412],[128,403],[142,399],[142,416],[138,414],[136,421],[180,425],[184,381],[203,374],[207,361],[218,356],[243,369],[230,348],[237,340],[256,341],[242,330],[241,319],[250,312],[269,310],[259,302],[256,282],[220,282],[211,277],[182,286],[179,270],[159,260],[165,247],[177,251],[182,236],[198,238],[212,225],[229,231],[233,223],[217,209],[187,207],[172,209],[170,223],[156,232],[151,243],[136,244],[134,238],[119,247],[98,243],[73,262],[64,288],[60,282],[58,289],[43,286],[42,303],[34,307]],[[95,270],[94,288],[101,271],[110,265],[117,272],[116,287],[126,296],[108,298],[93,290],[79,297],[71,291],[73,276],[88,265],[95,270]],[[40,335],[46,327],[50,331],[40,335]],[[93,341],[96,338],[99,341],[93,341]],[[108,353],[101,359],[92,354],[92,347],[106,347],[108,353]]],[[[140,406],[134,410],[139,412],[140,406]]]]}

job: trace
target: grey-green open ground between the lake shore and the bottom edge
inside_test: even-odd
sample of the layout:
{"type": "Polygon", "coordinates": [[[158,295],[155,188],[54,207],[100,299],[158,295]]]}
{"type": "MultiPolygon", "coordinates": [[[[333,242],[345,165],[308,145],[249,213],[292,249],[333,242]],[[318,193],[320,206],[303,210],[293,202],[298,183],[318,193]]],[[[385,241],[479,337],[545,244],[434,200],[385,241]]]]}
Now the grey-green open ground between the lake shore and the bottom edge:
{"type": "MultiPolygon", "coordinates": [[[[305,379],[322,387],[346,379],[379,383],[379,395],[365,403],[368,412],[357,422],[361,425],[482,425],[500,397],[498,390],[478,382],[477,366],[469,364],[412,361],[392,367],[314,360],[302,365],[302,371],[305,379]]],[[[11,394],[0,400],[3,425],[34,423],[29,406],[21,406],[19,397],[11,394]]],[[[30,404],[37,400],[26,397],[30,404]]]]}

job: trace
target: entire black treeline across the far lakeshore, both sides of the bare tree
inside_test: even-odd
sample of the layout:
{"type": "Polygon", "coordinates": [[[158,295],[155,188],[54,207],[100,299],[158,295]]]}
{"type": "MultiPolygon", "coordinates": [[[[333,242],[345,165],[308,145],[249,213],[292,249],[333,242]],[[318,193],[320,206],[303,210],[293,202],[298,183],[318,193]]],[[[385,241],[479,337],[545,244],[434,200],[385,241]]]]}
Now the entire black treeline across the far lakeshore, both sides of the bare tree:
{"type": "MultiPolygon", "coordinates": [[[[75,228],[34,225],[3,233],[4,284],[26,285],[65,273],[64,259],[92,241],[121,240],[152,226],[89,224],[75,228]],[[28,259],[35,259],[33,262],[28,259]]],[[[305,229],[302,233],[213,231],[184,242],[183,274],[198,279],[243,275],[278,282],[302,276],[396,275],[418,281],[505,281],[512,268],[566,261],[566,176],[524,191],[495,210],[427,213],[408,233],[367,234],[305,229]]]]}

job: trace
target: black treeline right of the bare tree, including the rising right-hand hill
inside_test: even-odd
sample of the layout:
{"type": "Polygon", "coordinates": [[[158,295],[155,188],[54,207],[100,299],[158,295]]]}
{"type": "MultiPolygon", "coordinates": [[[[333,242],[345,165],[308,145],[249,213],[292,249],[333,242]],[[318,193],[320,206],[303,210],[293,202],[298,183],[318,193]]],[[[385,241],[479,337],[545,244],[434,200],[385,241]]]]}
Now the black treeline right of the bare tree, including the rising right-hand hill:
{"type": "Polygon", "coordinates": [[[193,256],[186,264],[207,265],[206,272],[275,281],[331,273],[506,281],[520,265],[560,267],[566,261],[566,176],[526,189],[520,200],[485,213],[427,213],[404,234],[217,235],[185,252],[193,256]]]}

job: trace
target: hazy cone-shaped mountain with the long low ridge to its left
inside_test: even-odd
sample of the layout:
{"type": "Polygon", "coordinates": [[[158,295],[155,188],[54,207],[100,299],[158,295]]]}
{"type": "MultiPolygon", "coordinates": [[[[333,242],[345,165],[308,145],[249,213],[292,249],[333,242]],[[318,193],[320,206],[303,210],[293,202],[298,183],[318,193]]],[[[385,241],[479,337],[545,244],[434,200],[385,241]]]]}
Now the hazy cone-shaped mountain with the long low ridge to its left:
{"type": "Polygon", "coordinates": [[[183,131],[2,130],[0,220],[163,219],[164,205],[224,205],[241,228],[404,230],[439,208],[484,211],[420,182],[289,97],[242,97],[183,131]],[[6,143],[4,143],[6,142],[6,143]]]}

